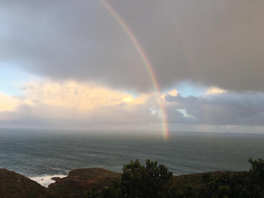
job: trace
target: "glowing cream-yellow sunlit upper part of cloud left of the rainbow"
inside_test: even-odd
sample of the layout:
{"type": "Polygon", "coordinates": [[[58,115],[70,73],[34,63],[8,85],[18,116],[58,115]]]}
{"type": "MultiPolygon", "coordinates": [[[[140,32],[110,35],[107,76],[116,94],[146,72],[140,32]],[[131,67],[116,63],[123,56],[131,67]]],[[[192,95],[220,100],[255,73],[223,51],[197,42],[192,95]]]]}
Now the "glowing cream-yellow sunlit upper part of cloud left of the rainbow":
{"type": "Polygon", "coordinates": [[[77,108],[79,110],[94,109],[100,106],[142,104],[149,97],[141,94],[133,97],[116,89],[99,86],[95,83],[79,83],[76,81],[52,81],[44,79],[28,83],[25,89],[27,100],[38,101],[52,106],[77,108]]]}

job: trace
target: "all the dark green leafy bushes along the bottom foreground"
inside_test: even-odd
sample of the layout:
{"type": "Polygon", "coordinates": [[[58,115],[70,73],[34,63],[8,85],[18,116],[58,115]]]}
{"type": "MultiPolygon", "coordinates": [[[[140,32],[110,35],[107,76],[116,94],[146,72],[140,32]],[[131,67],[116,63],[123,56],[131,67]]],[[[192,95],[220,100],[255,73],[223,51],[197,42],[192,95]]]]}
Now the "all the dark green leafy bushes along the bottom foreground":
{"type": "Polygon", "coordinates": [[[147,159],[146,166],[140,165],[136,160],[125,164],[121,182],[112,182],[97,191],[92,188],[85,192],[84,198],[263,198],[264,197],[264,160],[248,159],[251,163],[249,172],[233,174],[221,172],[221,175],[212,178],[211,173],[204,173],[201,181],[204,185],[199,188],[199,193],[194,194],[191,184],[185,185],[182,190],[177,190],[173,185],[172,172],[163,164],[147,159]]]}

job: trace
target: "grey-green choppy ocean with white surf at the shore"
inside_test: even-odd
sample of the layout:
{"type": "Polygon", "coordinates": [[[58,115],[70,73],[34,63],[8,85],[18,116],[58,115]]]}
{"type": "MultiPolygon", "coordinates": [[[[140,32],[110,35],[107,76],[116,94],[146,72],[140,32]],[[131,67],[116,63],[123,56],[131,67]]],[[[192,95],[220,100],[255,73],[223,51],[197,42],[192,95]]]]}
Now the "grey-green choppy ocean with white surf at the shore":
{"type": "Polygon", "coordinates": [[[173,175],[208,171],[246,171],[249,157],[264,158],[264,134],[0,129],[0,168],[29,177],[43,186],[76,168],[122,166],[149,158],[173,175]],[[43,180],[41,180],[43,179],[43,180]]]}

